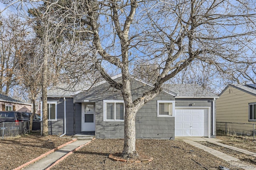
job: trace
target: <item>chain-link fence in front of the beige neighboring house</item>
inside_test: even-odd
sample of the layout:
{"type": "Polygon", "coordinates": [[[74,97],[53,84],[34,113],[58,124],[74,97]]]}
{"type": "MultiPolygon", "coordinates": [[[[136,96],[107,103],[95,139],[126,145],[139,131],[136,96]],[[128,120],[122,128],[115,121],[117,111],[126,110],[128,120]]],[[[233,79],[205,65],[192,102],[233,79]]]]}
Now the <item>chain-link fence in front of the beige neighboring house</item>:
{"type": "Polygon", "coordinates": [[[216,122],[216,131],[218,134],[248,136],[255,140],[255,125],[253,123],[216,122]]]}

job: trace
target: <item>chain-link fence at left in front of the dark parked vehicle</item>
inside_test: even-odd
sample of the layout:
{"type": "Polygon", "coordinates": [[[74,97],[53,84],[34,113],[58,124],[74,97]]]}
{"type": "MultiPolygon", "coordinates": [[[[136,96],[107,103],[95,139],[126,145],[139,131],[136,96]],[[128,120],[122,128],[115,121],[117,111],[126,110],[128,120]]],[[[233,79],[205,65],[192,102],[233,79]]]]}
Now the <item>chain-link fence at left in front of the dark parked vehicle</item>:
{"type": "Polygon", "coordinates": [[[0,135],[4,137],[14,137],[30,132],[29,122],[3,122],[0,123],[0,135]]]}

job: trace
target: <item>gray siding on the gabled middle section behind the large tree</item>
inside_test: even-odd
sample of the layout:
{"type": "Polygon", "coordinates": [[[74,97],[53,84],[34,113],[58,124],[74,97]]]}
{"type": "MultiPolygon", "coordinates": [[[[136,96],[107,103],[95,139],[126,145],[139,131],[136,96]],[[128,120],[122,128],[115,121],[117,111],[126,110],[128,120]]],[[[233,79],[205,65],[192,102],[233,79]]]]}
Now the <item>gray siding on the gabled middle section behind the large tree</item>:
{"type": "MultiPolygon", "coordinates": [[[[148,88],[150,87],[138,81],[132,81],[133,99],[141,96],[148,88]]],[[[97,138],[124,137],[124,122],[103,121],[103,100],[123,100],[120,91],[109,87],[105,83],[94,87],[89,92],[74,96],[74,102],[76,103],[83,103],[84,100],[95,103],[95,135],[97,138]]],[[[174,138],[174,117],[157,117],[157,100],[174,100],[174,97],[162,92],[138,111],[136,115],[136,138],[174,138]]],[[[76,111],[76,114],[79,113],[76,111]]]]}

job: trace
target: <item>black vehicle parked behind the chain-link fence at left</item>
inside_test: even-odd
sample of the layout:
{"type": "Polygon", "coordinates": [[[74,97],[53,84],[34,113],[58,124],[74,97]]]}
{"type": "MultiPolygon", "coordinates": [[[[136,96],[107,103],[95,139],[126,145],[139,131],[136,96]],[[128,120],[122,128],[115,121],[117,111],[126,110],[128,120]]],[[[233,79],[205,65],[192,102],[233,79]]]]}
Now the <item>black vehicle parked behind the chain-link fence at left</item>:
{"type": "MultiPolygon", "coordinates": [[[[19,122],[28,122],[30,121],[30,115],[32,115],[32,113],[17,111],[0,111],[0,123],[16,122],[16,124],[18,124],[19,122]]],[[[41,130],[40,121],[40,116],[38,114],[35,114],[33,117],[32,130],[41,130]]]]}

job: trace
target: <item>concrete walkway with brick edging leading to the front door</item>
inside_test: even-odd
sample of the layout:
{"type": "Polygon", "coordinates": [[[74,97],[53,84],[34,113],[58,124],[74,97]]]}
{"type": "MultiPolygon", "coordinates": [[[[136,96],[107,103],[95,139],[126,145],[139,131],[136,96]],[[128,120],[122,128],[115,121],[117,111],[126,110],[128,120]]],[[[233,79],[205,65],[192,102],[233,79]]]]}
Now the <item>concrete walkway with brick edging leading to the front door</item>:
{"type": "Polygon", "coordinates": [[[84,144],[90,142],[91,140],[76,140],[62,148],[56,150],[55,152],[47,155],[46,157],[36,161],[34,164],[30,164],[25,167],[23,170],[46,170],[50,167],[54,162],[65,156],[66,154],[72,152],[72,150],[78,148],[79,146],[83,146],[84,144]]]}

